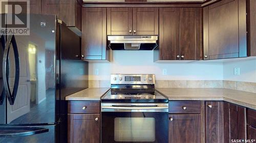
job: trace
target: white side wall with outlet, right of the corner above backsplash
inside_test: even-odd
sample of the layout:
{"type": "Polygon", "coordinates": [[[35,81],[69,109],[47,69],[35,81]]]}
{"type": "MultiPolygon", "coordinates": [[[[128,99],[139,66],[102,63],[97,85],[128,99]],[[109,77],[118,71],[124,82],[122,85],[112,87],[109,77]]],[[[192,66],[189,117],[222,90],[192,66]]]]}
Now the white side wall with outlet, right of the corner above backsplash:
{"type": "Polygon", "coordinates": [[[223,64],[223,79],[256,82],[256,60],[236,61],[223,64]],[[240,68],[240,75],[234,75],[234,68],[240,68]]]}

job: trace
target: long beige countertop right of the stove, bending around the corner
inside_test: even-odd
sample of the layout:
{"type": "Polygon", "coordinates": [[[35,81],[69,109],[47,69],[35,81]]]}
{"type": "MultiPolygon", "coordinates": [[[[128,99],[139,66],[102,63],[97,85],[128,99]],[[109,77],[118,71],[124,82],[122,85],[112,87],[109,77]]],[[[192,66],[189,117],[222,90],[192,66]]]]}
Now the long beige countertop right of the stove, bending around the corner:
{"type": "Polygon", "coordinates": [[[229,89],[169,89],[157,88],[169,100],[223,100],[256,109],[256,93],[229,89]]]}

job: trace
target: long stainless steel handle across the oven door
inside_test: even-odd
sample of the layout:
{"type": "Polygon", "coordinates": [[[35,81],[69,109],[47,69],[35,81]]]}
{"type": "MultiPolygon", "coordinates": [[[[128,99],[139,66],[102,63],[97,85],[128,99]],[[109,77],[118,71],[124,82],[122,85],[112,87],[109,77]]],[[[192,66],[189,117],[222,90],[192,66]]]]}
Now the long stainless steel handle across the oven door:
{"type": "Polygon", "coordinates": [[[168,109],[168,106],[156,106],[156,107],[136,107],[136,106],[131,106],[131,107],[122,107],[122,106],[101,106],[102,109],[120,109],[120,110],[156,110],[156,109],[168,109]]]}

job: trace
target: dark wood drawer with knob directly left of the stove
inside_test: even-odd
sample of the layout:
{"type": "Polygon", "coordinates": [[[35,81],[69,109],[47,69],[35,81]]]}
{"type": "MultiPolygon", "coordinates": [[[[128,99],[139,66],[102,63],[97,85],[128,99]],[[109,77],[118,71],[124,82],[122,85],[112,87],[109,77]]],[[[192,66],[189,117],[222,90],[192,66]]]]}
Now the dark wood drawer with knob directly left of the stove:
{"type": "Polygon", "coordinates": [[[99,101],[69,101],[68,113],[99,113],[99,101]]]}

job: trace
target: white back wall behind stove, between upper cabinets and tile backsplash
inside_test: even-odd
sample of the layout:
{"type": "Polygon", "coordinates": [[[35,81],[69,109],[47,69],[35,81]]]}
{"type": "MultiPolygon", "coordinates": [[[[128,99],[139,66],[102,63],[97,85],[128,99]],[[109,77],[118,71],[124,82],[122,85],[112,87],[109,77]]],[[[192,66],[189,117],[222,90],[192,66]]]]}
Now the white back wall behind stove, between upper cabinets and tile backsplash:
{"type": "Polygon", "coordinates": [[[154,63],[153,51],[112,51],[112,61],[89,62],[89,80],[110,80],[111,73],[154,73],[158,80],[222,80],[222,63],[154,63]],[[98,69],[98,75],[95,75],[98,69]],[[163,75],[162,70],[167,74],[163,75]]]}

